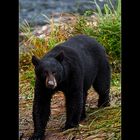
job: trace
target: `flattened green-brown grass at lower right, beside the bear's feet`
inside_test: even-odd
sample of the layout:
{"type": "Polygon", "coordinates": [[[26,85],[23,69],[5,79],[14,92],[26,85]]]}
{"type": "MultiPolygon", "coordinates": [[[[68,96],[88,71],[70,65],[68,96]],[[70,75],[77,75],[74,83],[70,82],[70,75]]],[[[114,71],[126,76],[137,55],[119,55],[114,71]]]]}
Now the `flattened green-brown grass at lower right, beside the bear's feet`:
{"type": "Polygon", "coordinates": [[[68,138],[76,137],[85,140],[94,138],[120,140],[120,110],[118,106],[94,110],[89,108],[87,111],[87,119],[80,124],[80,127],[64,131],[63,135],[66,135],[68,138]]]}

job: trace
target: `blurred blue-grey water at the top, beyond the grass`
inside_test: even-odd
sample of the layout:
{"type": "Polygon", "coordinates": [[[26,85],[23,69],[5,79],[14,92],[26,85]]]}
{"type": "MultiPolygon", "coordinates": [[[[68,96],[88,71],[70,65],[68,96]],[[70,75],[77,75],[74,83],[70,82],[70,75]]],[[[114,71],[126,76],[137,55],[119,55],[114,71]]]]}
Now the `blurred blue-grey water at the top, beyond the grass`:
{"type": "MultiPolygon", "coordinates": [[[[117,0],[111,0],[116,6],[117,0]]],[[[109,0],[96,0],[101,9],[109,0]]],[[[111,7],[111,5],[109,4],[111,7]]],[[[83,14],[86,10],[96,10],[94,0],[19,0],[19,21],[27,20],[32,26],[44,25],[46,20],[42,14],[49,18],[55,13],[79,13],[83,14]]]]}

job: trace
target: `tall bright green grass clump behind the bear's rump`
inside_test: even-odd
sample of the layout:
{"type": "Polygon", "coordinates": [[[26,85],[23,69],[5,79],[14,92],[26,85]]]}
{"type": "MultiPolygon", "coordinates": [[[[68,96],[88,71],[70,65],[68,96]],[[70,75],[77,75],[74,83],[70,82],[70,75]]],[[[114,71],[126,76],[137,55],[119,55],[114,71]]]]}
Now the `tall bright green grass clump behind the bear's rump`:
{"type": "MultiPolygon", "coordinates": [[[[111,2],[110,2],[111,3],[111,2]]],[[[96,22],[87,22],[87,17],[82,16],[75,25],[75,34],[87,34],[96,38],[105,48],[108,54],[113,71],[120,72],[120,54],[121,54],[121,1],[118,0],[117,10],[104,5],[104,11],[95,1],[97,12],[95,12],[96,22]],[[87,24],[88,23],[88,24],[87,24]]],[[[87,12],[86,12],[87,15],[87,12]]]]}

